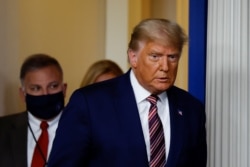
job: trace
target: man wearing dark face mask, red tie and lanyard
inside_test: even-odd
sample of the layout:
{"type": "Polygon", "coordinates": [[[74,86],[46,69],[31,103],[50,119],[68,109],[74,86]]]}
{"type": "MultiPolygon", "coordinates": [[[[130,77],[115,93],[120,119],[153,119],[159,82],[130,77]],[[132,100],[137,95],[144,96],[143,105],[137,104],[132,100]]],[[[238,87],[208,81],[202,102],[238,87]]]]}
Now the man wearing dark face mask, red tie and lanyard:
{"type": "Polygon", "coordinates": [[[67,84],[58,61],[46,54],[28,57],[21,66],[20,80],[27,111],[0,118],[0,166],[44,167],[67,84]]]}

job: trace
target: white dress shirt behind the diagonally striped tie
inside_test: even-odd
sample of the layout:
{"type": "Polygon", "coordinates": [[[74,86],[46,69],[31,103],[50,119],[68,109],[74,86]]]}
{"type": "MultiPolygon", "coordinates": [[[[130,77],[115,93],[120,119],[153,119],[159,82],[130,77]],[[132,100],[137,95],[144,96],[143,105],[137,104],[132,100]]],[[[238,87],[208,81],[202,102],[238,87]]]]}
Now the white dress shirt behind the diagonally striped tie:
{"type": "MultiPolygon", "coordinates": [[[[136,104],[139,110],[139,115],[141,119],[141,125],[144,135],[144,140],[146,143],[148,160],[150,160],[150,137],[149,137],[149,127],[148,127],[148,112],[150,108],[150,102],[146,99],[151,95],[146,89],[144,89],[135,77],[133,70],[130,72],[130,81],[132,88],[134,90],[136,104]]],[[[164,138],[165,138],[165,149],[166,149],[166,159],[168,157],[169,146],[170,146],[170,118],[169,118],[169,104],[167,93],[163,92],[158,95],[159,100],[157,101],[158,115],[161,119],[164,138]]]]}

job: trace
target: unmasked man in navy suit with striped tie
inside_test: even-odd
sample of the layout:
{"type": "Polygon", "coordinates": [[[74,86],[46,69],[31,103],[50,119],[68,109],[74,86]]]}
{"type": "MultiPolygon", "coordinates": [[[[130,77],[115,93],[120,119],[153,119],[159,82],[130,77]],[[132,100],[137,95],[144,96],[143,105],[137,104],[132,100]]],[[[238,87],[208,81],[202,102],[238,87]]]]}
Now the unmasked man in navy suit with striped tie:
{"type": "Polygon", "coordinates": [[[76,90],[59,121],[49,167],[205,167],[205,109],[174,85],[182,28],[141,21],[124,75],[76,90]]]}

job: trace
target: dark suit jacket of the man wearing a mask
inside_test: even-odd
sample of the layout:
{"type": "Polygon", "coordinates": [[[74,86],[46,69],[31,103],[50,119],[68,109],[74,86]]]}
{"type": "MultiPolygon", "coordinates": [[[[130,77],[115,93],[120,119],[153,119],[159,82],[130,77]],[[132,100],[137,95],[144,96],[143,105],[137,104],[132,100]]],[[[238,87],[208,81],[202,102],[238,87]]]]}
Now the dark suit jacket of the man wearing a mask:
{"type": "Polygon", "coordinates": [[[0,118],[0,166],[27,167],[27,112],[0,118]]]}

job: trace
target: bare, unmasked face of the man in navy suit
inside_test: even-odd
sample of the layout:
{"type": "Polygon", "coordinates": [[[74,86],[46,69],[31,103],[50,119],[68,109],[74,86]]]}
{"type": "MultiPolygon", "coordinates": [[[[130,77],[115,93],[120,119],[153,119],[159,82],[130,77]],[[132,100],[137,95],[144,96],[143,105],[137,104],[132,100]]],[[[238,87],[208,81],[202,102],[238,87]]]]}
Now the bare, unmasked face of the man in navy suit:
{"type": "Polygon", "coordinates": [[[141,42],[137,51],[129,50],[128,54],[136,78],[150,93],[159,94],[174,84],[180,58],[178,49],[141,42]]]}

